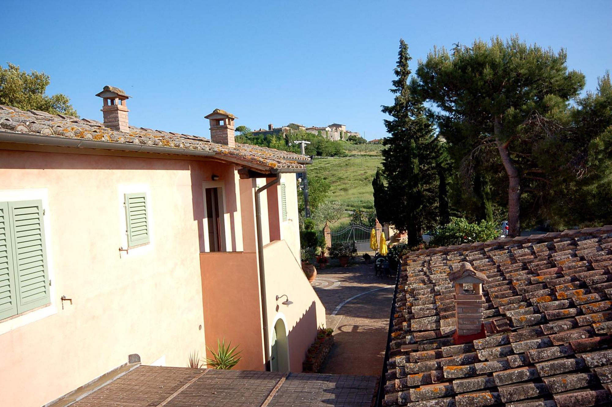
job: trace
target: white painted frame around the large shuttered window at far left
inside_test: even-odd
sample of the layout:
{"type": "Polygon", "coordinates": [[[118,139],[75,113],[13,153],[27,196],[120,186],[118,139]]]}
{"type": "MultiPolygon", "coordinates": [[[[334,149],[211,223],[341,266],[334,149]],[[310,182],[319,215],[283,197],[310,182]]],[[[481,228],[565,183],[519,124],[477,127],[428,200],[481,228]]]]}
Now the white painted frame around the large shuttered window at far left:
{"type": "Polygon", "coordinates": [[[40,319],[58,313],[57,300],[55,294],[56,280],[53,261],[53,239],[51,236],[52,226],[50,221],[49,199],[47,188],[37,189],[0,189],[0,202],[11,202],[17,200],[40,200],[43,208],[43,224],[45,225],[45,251],[47,253],[47,272],[49,273],[50,303],[41,305],[34,310],[25,311],[22,314],[17,314],[0,322],[0,335],[10,332],[13,329],[23,327],[32,322],[40,321],[40,319]]]}

